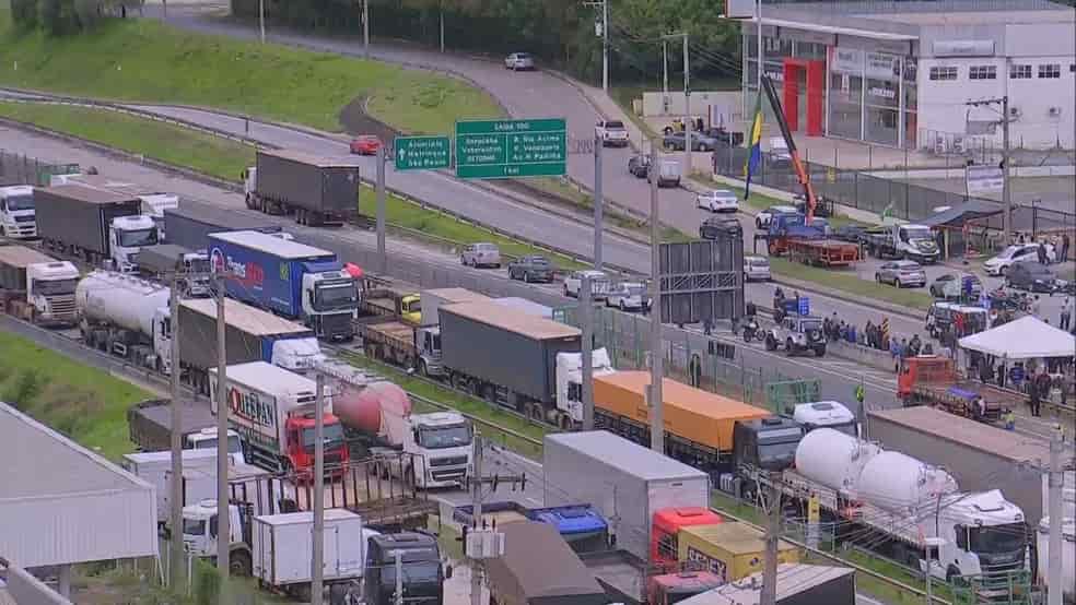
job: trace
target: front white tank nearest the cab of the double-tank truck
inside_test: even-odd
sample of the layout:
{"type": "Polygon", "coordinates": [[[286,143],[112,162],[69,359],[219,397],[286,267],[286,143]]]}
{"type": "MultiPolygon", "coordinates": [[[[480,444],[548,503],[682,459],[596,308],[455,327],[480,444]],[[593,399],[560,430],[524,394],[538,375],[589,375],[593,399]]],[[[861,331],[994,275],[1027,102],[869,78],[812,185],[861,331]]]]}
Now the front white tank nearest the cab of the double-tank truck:
{"type": "Polygon", "coordinates": [[[880,509],[905,512],[954,494],[957,481],[937,466],[900,452],[881,452],[863,466],[858,497],[880,509]]]}

